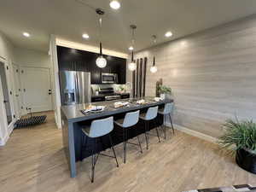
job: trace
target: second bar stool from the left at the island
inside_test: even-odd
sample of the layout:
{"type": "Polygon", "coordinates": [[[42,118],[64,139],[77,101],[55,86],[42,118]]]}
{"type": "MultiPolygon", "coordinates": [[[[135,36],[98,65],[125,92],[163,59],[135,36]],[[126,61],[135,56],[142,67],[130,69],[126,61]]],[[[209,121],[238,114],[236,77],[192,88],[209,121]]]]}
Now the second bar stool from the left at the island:
{"type": "MultiPolygon", "coordinates": [[[[133,125],[137,125],[138,119],[139,119],[140,111],[131,112],[131,113],[125,113],[125,119],[118,119],[114,121],[116,125],[121,127],[123,129],[123,143],[124,143],[124,163],[126,162],[126,144],[128,143],[128,131],[129,128],[133,125]]],[[[137,136],[137,143],[129,143],[133,145],[137,145],[141,149],[141,153],[143,153],[143,148],[140,142],[139,136],[137,136]]]]}

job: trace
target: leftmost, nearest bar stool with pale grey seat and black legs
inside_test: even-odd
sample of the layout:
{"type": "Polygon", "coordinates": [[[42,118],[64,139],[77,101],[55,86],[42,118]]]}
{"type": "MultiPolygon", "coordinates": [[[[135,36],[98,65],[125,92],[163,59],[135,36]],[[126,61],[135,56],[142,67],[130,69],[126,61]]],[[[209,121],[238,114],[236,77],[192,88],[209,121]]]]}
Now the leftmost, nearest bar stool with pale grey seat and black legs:
{"type": "MultiPolygon", "coordinates": [[[[108,135],[109,142],[110,142],[111,148],[113,150],[113,156],[109,156],[107,154],[101,154],[101,155],[114,158],[116,161],[117,167],[119,166],[119,163],[118,163],[118,160],[116,158],[116,154],[115,154],[115,151],[113,148],[112,137],[110,136],[110,132],[113,131],[113,117],[109,117],[107,119],[93,120],[91,122],[91,125],[84,127],[82,129],[82,131],[84,132],[85,136],[90,137],[94,140],[93,146],[91,149],[91,178],[90,178],[91,183],[93,183],[96,161],[98,159],[98,156],[101,154],[100,152],[97,153],[97,148],[96,148],[96,144],[97,144],[96,141],[98,138],[108,135]]],[[[86,148],[87,140],[88,139],[86,139],[85,148],[86,148]]]]}

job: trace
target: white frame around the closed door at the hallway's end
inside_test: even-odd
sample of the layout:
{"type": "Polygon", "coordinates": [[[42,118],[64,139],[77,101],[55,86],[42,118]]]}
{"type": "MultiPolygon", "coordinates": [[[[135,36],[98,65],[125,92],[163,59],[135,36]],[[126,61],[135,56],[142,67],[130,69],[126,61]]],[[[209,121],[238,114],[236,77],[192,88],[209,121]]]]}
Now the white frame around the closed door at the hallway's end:
{"type": "MultiPolygon", "coordinates": [[[[31,67],[31,66],[20,66],[20,87],[21,87],[21,92],[22,92],[22,105],[23,105],[23,108],[24,108],[24,111],[26,111],[26,102],[25,102],[25,96],[24,96],[24,90],[25,90],[25,86],[24,86],[24,82],[23,82],[23,79],[22,79],[22,69],[23,68],[34,68],[34,69],[48,69],[49,70],[49,87],[50,87],[50,90],[51,90],[51,95],[50,95],[50,99],[51,99],[51,108],[49,109],[49,111],[52,111],[54,110],[54,103],[53,103],[53,84],[52,84],[52,72],[51,72],[51,68],[50,67],[31,67]]],[[[27,113],[27,111],[26,111],[27,113]]]]}

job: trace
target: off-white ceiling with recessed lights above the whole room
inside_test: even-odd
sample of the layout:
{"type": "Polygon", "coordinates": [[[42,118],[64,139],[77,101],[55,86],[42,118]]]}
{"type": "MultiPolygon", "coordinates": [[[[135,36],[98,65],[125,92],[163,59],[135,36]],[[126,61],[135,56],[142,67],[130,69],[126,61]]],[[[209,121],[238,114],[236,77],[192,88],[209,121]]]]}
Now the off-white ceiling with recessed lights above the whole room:
{"type": "MultiPolygon", "coordinates": [[[[83,0],[102,8],[102,43],[105,48],[128,52],[131,24],[137,25],[136,49],[183,37],[212,26],[256,13],[255,0],[122,0],[121,9],[109,8],[109,0],[83,0]],[[165,38],[172,31],[172,38],[165,38]]],[[[96,45],[97,16],[94,9],[76,0],[1,0],[0,31],[13,44],[27,49],[48,50],[49,34],[66,40],[96,45]],[[22,32],[32,34],[24,38],[22,32]],[[86,32],[89,40],[81,36],[86,32]]]]}

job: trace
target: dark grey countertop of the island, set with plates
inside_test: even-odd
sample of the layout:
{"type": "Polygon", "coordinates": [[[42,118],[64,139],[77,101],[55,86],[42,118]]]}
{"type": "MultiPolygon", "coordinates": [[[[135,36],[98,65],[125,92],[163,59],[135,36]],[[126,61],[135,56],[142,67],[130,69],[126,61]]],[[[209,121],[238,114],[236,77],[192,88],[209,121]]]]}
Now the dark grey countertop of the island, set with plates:
{"type": "MultiPolygon", "coordinates": [[[[140,98],[140,99],[142,99],[142,98],[140,98]]],[[[116,113],[125,113],[125,112],[129,112],[129,111],[136,110],[136,109],[148,108],[148,107],[164,104],[166,102],[173,102],[173,100],[170,100],[170,99],[166,99],[166,100],[163,100],[160,102],[154,102],[154,97],[145,97],[143,99],[148,103],[139,105],[136,103],[137,100],[139,100],[139,99],[133,99],[130,106],[126,107],[126,108],[114,108],[113,103],[114,102],[129,102],[129,99],[62,106],[61,111],[66,116],[68,122],[79,122],[79,121],[83,121],[83,120],[101,118],[101,117],[113,115],[116,113]],[[81,113],[81,110],[87,108],[90,104],[96,105],[96,106],[106,106],[106,108],[104,111],[102,111],[100,113],[88,113],[85,115],[83,113],[81,113]]]]}

